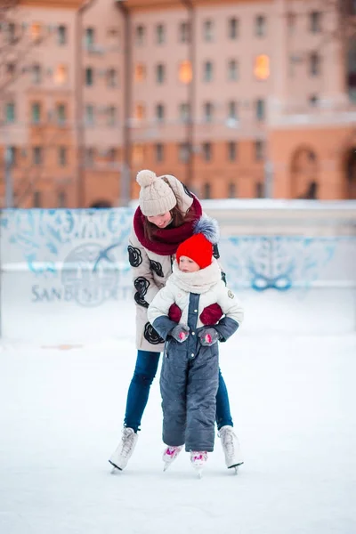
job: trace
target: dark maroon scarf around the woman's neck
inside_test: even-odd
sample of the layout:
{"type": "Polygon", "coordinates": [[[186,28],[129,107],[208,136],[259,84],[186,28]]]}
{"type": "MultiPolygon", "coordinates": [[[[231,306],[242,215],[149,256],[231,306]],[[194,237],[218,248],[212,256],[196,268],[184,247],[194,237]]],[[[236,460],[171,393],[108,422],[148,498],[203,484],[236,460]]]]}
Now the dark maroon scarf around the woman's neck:
{"type": "Polygon", "coordinates": [[[176,228],[158,229],[154,240],[150,240],[145,238],[143,230],[145,216],[142,214],[141,208],[138,207],[134,213],[134,231],[142,247],[158,255],[174,255],[181,243],[193,235],[194,223],[203,213],[198,198],[194,197],[190,210],[194,218],[189,223],[182,223],[181,226],[176,228]]]}

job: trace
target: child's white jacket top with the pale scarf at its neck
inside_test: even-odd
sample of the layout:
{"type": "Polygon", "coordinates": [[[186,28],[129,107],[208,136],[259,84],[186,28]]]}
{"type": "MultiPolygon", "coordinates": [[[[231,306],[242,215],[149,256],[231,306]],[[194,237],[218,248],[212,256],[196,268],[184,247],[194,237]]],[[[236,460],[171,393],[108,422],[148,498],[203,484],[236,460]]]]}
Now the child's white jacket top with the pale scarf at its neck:
{"type": "MultiPolygon", "coordinates": [[[[150,303],[148,317],[151,325],[156,328],[159,323],[158,318],[168,316],[169,308],[173,303],[176,303],[182,311],[179,322],[187,325],[190,293],[200,295],[196,328],[205,326],[200,320],[200,314],[207,306],[214,303],[220,305],[226,318],[236,321],[238,325],[242,322],[244,318],[242,306],[232,291],[225,286],[221,279],[221,269],[213,258],[213,263],[206,269],[189,273],[180,271],[177,262],[174,261],[173,274],[167,279],[166,287],[163,287],[150,303]]],[[[219,330],[219,328],[216,329],[219,330]]],[[[224,339],[223,332],[221,334],[224,339]]]]}

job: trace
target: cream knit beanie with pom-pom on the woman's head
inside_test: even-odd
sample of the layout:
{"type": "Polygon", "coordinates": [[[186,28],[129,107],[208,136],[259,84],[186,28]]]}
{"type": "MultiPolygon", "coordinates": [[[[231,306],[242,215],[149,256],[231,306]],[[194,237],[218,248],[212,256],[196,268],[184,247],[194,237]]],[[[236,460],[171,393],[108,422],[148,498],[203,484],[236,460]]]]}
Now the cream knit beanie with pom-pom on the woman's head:
{"type": "Polygon", "coordinates": [[[166,214],[177,204],[173,190],[153,171],[140,171],[136,181],[141,185],[140,207],[146,217],[166,214]]]}

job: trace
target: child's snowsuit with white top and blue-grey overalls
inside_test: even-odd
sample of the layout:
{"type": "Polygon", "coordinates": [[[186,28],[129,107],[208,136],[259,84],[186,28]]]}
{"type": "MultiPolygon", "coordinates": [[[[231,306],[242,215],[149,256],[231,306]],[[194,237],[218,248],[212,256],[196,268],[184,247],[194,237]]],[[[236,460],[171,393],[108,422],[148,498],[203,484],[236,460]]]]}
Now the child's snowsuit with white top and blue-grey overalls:
{"type": "Polygon", "coordinates": [[[220,340],[226,341],[239,328],[243,311],[221,280],[218,264],[214,260],[211,266],[201,271],[181,273],[174,262],[174,274],[149,308],[153,328],[166,340],[160,377],[163,441],[168,446],[185,443],[187,451],[214,450],[219,349],[218,343],[203,346],[198,337],[198,333],[206,328],[200,314],[212,303],[218,303],[225,314],[214,328],[220,340]],[[189,277],[198,279],[198,285],[186,285],[185,279],[189,277]],[[180,323],[190,328],[190,335],[182,344],[169,335],[177,324],[168,318],[172,303],[182,310],[180,323]]]}

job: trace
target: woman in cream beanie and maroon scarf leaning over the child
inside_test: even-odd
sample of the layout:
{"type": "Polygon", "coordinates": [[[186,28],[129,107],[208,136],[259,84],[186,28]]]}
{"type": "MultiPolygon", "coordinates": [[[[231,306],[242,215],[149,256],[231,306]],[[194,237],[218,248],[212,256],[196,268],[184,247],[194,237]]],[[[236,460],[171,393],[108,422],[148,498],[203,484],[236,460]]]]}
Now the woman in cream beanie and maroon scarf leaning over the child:
{"type": "MultiPolygon", "coordinates": [[[[120,470],[125,469],[134,452],[150,385],[156,376],[159,355],[164,348],[164,340],[147,318],[147,308],[159,289],[166,285],[177,248],[192,236],[194,223],[202,216],[198,198],[174,176],[158,177],[152,171],[145,170],[137,174],[137,182],[141,186],[140,206],[134,214],[128,255],[134,279],[138,353],[127,393],[122,438],[109,459],[109,463],[120,470]]],[[[239,441],[232,429],[228,392],[220,371],[216,424],[227,467],[242,463],[239,441]]]]}

